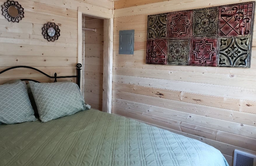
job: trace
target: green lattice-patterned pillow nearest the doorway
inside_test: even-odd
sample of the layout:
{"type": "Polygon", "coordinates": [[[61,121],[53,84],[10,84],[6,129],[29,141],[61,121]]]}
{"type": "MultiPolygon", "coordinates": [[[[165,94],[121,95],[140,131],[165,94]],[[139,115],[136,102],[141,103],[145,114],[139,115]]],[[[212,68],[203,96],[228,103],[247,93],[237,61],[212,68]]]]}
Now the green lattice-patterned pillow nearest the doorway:
{"type": "Polygon", "coordinates": [[[29,84],[42,122],[72,115],[86,107],[80,89],[75,83],[29,81],[29,84]]]}

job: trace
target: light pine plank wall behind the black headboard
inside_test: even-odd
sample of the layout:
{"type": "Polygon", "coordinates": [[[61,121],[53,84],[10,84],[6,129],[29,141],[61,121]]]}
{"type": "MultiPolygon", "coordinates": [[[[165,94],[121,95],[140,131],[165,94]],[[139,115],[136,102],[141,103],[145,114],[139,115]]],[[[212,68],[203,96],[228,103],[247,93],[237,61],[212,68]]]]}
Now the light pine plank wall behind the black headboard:
{"type": "MultiPolygon", "coordinates": [[[[4,2],[6,0],[0,0],[1,5],[4,2]]],[[[0,71],[11,66],[28,65],[51,75],[54,72],[58,76],[75,75],[77,7],[113,14],[113,3],[110,0],[19,0],[25,18],[12,23],[0,16],[0,71]],[[42,27],[49,21],[60,26],[59,40],[54,42],[48,42],[42,35],[42,27]]],[[[24,77],[53,81],[25,69],[1,74],[0,84],[24,77]]]]}

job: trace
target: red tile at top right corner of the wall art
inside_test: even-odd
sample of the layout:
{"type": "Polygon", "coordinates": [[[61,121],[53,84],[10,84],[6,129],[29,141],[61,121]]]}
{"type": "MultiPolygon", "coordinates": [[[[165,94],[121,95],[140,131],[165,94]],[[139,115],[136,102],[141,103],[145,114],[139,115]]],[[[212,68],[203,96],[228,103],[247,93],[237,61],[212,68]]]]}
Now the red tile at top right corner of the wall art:
{"type": "Polygon", "coordinates": [[[251,34],[253,3],[221,7],[220,36],[251,34]]]}

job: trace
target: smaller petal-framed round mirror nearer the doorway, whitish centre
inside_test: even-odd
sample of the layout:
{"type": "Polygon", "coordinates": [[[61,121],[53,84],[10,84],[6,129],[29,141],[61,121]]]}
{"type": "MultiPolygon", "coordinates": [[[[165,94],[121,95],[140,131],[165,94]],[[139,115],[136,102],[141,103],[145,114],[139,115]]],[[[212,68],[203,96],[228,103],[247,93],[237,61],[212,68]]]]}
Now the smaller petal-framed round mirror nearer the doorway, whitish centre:
{"type": "Polygon", "coordinates": [[[59,26],[53,22],[48,22],[47,24],[44,24],[44,27],[42,27],[42,30],[43,30],[42,34],[44,35],[44,39],[47,39],[47,41],[58,40],[60,36],[59,26]]]}

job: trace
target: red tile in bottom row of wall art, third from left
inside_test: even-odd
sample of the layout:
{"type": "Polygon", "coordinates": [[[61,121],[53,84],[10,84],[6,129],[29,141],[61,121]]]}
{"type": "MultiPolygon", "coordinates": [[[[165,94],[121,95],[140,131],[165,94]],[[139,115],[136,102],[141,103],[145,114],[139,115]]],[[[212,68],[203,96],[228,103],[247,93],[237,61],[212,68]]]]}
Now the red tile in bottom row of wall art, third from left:
{"type": "Polygon", "coordinates": [[[217,39],[193,39],[189,64],[217,66],[217,39]]]}

